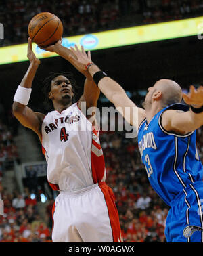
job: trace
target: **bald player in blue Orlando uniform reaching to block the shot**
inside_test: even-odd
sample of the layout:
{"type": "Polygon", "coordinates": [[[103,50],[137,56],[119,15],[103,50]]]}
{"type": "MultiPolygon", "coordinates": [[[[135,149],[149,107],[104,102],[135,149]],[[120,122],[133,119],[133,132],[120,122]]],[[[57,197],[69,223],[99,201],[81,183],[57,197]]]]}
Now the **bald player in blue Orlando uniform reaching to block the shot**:
{"type": "Polygon", "coordinates": [[[175,81],[161,79],[148,88],[144,109],[138,108],[85,51],[76,47],[72,52],[76,58],[69,58],[75,68],[88,70],[101,92],[137,127],[150,184],[171,207],[166,219],[167,242],[203,242],[203,166],[196,148],[196,129],[203,125],[203,87],[191,86],[188,94],[182,94],[175,81]],[[182,97],[187,105],[181,104],[182,97]]]}

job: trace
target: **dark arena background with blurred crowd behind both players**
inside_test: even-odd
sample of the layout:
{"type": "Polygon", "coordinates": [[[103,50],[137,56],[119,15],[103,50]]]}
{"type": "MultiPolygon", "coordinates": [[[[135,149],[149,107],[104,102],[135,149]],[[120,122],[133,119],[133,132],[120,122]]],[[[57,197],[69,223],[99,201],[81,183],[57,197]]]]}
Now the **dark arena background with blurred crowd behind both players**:
{"type": "MultiPolygon", "coordinates": [[[[9,0],[1,5],[0,22],[5,26],[5,39],[1,40],[1,47],[26,43],[28,21],[39,12],[53,12],[62,22],[66,20],[64,36],[68,37],[81,31],[87,34],[201,16],[203,9],[202,1],[64,0],[60,1],[61,5],[57,1],[34,2],[36,11],[31,8],[32,1],[15,3],[9,0]],[[91,11],[88,8],[85,11],[87,5],[91,11]],[[71,9],[72,13],[67,11],[66,14],[66,8],[71,9]],[[102,20],[104,15],[106,20],[102,20]],[[82,22],[84,20],[87,22],[82,22]],[[88,26],[81,29],[80,21],[88,26]]],[[[158,79],[173,79],[185,90],[191,84],[203,84],[202,43],[195,35],[101,49],[92,51],[92,60],[120,83],[131,99],[141,106],[147,88],[158,79]]],[[[0,65],[0,198],[4,202],[4,216],[0,217],[0,242],[51,242],[51,207],[57,193],[47,184],[45,159],[37,135],[22,127],[12,115],[14,93],[28,65],[27,61],[0,65]]],[[[66,60],[60,57],[41,59],[29,103],[33,110],[47,111],[41,92],[41,82],[47,74],[66,70],[74,73],[81,88],[78,97],[83,93],[85,78],[66,60]]],[[[112,104],[101,94],[98,106],[101,108],[112,104]]],[[[126,139],[124,131],[101,131],[100,140],[106,161],[106,182],[116,196],[124,241],[166,242],[164,226],[168,206],[148,182],[137,139],[126,139]]],[[[202,159],[202,129],[198,129],[197,145],[202,159]]]]}

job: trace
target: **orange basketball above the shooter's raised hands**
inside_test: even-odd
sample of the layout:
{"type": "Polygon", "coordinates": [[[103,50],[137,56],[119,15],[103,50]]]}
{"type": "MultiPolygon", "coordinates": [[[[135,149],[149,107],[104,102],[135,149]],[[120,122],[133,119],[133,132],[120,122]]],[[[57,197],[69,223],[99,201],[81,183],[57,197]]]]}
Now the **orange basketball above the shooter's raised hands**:
{"type": "Polygon", "coordinates": [[[46,47],[53,45],[62,37],[63,25],[54,14],[41,12],[30,20],[28,34],[37,45],[46,47]]]}

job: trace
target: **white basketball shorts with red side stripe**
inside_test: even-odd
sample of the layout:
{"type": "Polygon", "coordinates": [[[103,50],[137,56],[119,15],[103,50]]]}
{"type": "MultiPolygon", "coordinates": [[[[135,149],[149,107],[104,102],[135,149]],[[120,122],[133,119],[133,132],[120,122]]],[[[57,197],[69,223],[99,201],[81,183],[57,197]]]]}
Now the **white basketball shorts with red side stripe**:
{"type": "Polygon", "coordinates": [[[53,242],[122,242],[112,189],[93,184],[76,192],[60,191],[53,205],[53,242]]]}

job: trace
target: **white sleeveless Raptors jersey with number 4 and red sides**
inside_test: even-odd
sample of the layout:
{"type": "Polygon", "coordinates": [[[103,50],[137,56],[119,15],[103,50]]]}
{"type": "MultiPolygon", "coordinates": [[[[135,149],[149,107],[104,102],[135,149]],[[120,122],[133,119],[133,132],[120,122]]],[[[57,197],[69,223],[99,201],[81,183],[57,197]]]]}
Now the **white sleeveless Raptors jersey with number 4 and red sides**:
{"type": "Polygon", "coordinates": [[[76,191],[106,178],[98,132],[76,103],[45,116],[42,149],[53,190],[76,191]]]}

